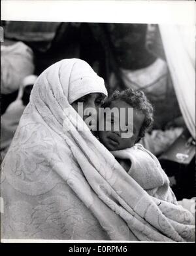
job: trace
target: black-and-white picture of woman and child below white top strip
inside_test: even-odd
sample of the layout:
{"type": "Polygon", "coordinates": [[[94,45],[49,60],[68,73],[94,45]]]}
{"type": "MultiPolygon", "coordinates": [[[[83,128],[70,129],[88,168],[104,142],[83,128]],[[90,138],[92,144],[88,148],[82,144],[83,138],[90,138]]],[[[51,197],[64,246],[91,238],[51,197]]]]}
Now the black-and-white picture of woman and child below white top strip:
{"type": "Polygon", "coordinates": [[[195,242],[195,35],[1,20],[1,242],[195,242]]]}

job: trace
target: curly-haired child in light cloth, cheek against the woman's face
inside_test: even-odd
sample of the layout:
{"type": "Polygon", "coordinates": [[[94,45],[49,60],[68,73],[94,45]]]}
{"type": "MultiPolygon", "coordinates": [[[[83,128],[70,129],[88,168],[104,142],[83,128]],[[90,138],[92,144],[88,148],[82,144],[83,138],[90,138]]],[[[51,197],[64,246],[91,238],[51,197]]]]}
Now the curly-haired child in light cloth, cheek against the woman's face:
{"type": "MultiPolygon", "coordinates": [[[[133,89],[127,89],[122,92],[116,91],[106,100],[103,108],[109,108],[110,110],[116,108],[118,112],[124,108],[125,116],[118,118],[119,127],[122,118],[128,127],[131,125],[129,123],[131,119],[128,118],[127,113],[129,108],[133,108],[133,136],[125,138],[122,136],[125,131],[121,129],[115,131],[114,123],[116,118],[114,114],[110,118],[110,131],[106,131],[104,126],[104,131],[99,131],[98,133],[99,140],[110,150],[125,171],[150,196],[176,203],[176,198],[169,186],[169,179],[161,168],[159,161],[152,153],[137,143],[144,137],[146,131],[151,129],[153,123],[153,108],[144,93],[133,89]]],[[[103,117],[101,121],[106,123],[108,121],[107,117],[103,117]]]]}

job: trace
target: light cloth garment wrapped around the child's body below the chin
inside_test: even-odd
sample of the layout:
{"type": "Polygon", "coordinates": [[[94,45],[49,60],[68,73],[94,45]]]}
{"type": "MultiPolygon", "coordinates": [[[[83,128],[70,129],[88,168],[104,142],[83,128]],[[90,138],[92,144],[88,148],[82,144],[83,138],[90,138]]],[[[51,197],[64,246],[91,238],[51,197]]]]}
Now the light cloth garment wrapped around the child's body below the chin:
{"type": "MultiPolygon", "coordinates": [[[[127,173],[146,192],[154,198],[177,204],[176,197],[169,186],[169,178],[161,168],[159,160],[142,144],[135,144],[131,148],[111,152],[116,159],[130,160],[131,166],[127,173]]],[[[123,165],[122,165],[123,166],[123,165]]]]}

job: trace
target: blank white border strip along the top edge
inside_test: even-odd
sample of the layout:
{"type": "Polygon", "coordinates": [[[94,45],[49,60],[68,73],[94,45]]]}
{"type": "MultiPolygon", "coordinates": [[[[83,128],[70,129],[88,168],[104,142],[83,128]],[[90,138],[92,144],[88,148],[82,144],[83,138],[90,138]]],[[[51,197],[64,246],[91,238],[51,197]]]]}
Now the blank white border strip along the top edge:
{"type": "Polygon", "coordinates": [[[195,1],[1,1],[1,20],[195,24],[195,13],[195,1]]]}

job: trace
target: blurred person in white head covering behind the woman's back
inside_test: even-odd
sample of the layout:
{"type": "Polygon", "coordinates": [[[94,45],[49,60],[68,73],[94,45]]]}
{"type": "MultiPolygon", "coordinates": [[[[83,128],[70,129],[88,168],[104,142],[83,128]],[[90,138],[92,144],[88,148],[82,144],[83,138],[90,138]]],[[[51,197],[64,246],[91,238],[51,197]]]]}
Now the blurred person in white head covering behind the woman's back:
{"type": "Polygon", "coordinates": [[[12,142],[20,117],[29,103],[29,96],[36,79],[37,75],[28,75],[24,78],[18,97],[8,106],[5,114],[1,116],[1,161],[12,142]]]}

